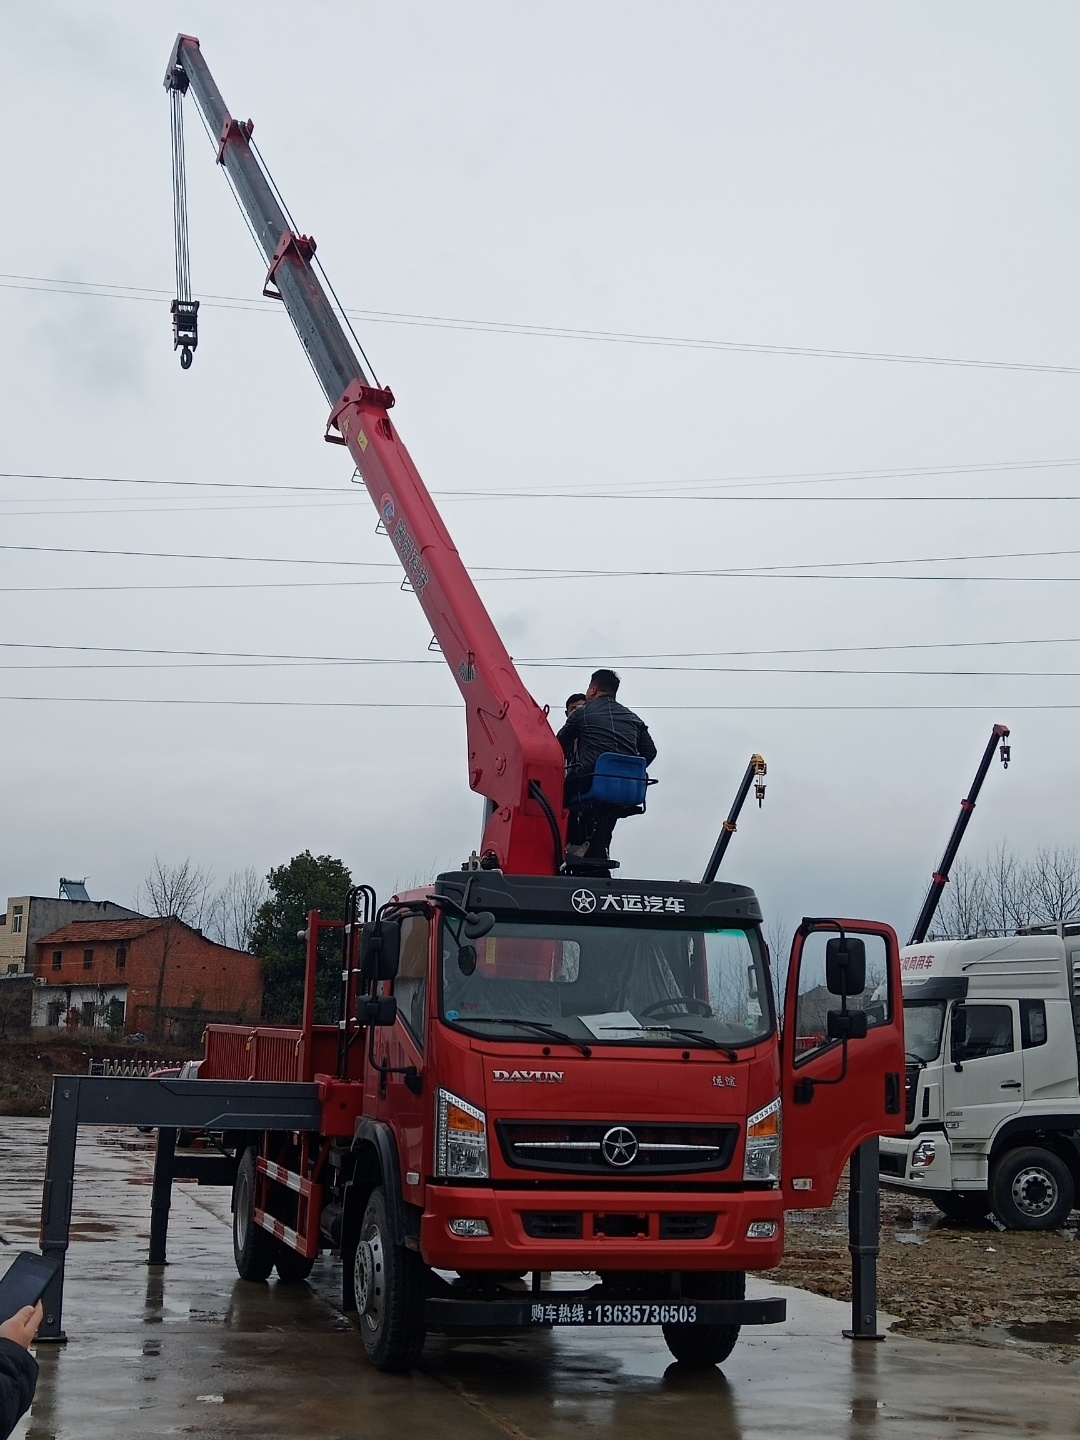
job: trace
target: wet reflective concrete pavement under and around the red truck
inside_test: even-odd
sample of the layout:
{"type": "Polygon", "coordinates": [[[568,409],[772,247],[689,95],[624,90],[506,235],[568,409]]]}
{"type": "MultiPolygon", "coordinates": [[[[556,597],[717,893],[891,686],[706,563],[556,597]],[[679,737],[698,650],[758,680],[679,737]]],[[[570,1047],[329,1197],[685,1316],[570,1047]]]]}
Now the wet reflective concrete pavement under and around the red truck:
{"type": "MultiPolygon", "coordinates": [[[[46,1125],[0,1117],[0,1269],[33,1248],[46,1125]]],[[[743,1331],[723,1371],[674,1365],[658,1331],[433,1338],[410,1377],[373,1371],[336,1309],[338,1269],[310,1284],[236,1279],[229,1195],[177,1184],[170,1264],[148,1269],[148,1143],[84,1130],[65,1297],[66,1346],[17,1440],[258,1436],[289,1440],[844,1440],[1080,1436],[1080,1367],[890,1336],[852,1345],[845,1306],[785,1293],[786,1325],[743,1331]]]]}

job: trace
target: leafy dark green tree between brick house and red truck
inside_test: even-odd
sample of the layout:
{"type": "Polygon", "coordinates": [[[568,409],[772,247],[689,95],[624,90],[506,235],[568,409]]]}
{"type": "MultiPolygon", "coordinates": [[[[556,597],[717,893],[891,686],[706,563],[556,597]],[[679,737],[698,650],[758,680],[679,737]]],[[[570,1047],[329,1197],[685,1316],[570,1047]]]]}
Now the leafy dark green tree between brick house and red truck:
{"type": "MultiPolygon", "coordinates": [[[[300,1024],[304,1005],[305,945],[300,932],[307,929],[308,910],[318,910],[324,920],[344,917],[346,893],[353,883],[348,867],[331,855],[312,855],[305,850],[287,865],[276,865],[266,876],[269,899],[259,906],[251,932],[251,949],[262,959],[262,1018],[276,1025],[300,1024]]],[[[318,1021],[336,1017],[340,963],[334,981],[333,963],[320,958],[318,1021]],[[324,994],[325,992],[325,994],[324,994]],[[334,1008],[334,1015],[321,1014],[334,1008]]]]}

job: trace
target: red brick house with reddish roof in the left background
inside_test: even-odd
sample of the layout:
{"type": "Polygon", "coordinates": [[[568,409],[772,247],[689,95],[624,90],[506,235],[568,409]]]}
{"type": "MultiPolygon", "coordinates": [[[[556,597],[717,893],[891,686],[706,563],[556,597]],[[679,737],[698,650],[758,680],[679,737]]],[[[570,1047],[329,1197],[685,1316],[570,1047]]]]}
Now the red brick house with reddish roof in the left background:
{"type": "Polygon", "coordinates": [[[36,1027],[193,1044],[207,1022],[255,1021],[262,1005],[262,960],[174,916],[75,920],[36,942],[33,973],[36,1027]]]}

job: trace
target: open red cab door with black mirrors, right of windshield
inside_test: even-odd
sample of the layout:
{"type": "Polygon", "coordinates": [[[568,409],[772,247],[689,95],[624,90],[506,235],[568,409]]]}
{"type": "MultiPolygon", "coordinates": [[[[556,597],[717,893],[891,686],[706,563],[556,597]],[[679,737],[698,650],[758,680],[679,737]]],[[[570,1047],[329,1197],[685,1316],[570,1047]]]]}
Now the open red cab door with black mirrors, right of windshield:
{"type": "MultiPolygon", "coordinates": [[[[854,948],[851,953],[854,959],[854,948]]],[[[904,1007],[891,926],[802,922],[788,966],[780,1045],[783,1200],[789,1210],[816,1210],[832,1204],[844,1165],[863,1140],[904,1133],[904,1007]],[[850,972],[835,965],[838,953],[847,955],[844,937],[861,942],[863,975],[854,963],[850,972]],[[829,1012],[848,1018],[829,1020],[829,1012]]]]}

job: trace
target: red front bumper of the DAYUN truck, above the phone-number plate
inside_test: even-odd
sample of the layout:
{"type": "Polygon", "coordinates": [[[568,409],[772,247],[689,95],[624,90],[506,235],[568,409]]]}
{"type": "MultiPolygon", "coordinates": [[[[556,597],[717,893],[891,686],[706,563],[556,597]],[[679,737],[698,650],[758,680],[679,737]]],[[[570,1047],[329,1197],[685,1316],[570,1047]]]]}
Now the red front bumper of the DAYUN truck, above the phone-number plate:
{"type": "Polygon", "coordinates": [[[783,1197],[779,1188],[612,1192],[429,1185],[420,1254],[436,1270],[769,1270],[783,1254],[783,1197]],[[490,1234],[452,1234],[451,1220],[462,1217],[484,1220],[490,1234]],[[775,1234],[747,1238],[755,1223],[775,1224],[775,1234]]]}

